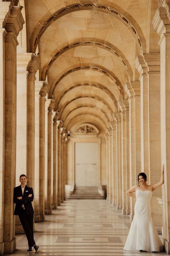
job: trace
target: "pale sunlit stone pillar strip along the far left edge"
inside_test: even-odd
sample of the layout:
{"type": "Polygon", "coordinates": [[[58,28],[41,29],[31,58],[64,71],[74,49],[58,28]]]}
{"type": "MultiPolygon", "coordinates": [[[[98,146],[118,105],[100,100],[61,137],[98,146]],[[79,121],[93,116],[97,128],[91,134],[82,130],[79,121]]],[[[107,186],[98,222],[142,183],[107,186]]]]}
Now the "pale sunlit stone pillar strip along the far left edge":
{"type": "MultiPolygon", "coordinates": [[[[9,3],[0,2],[0,255],[4,253],[4,172],[5,172],[5,35],[3,22],[9,12],[9,3]]],[[[11,191],[11,189],[10,189],[11,191]]]]}

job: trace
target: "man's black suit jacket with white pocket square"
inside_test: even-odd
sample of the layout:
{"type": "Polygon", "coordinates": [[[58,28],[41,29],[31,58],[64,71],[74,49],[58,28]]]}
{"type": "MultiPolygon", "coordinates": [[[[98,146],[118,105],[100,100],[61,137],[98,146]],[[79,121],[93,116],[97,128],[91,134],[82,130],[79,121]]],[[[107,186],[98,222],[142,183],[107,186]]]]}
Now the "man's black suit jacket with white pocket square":
{"type": "Polygon", "coordinates": [[[22,205],[24,205],[25,212],[27,214],[34,214],[34,210],[31,203],[34,199],[33,188],[25,185],[24,193],[22,193],[21,185],[18,187],[15,187],[13,199],[14,199],[13,200],[14,203],[16,203],[14,215],[20,215],[22,211],[22,205]],[[29,194],[32,194],[32,197],[28,197],[29,194]],[[22,199],[17,199],[17,197],[22,197],[22,199]]]}

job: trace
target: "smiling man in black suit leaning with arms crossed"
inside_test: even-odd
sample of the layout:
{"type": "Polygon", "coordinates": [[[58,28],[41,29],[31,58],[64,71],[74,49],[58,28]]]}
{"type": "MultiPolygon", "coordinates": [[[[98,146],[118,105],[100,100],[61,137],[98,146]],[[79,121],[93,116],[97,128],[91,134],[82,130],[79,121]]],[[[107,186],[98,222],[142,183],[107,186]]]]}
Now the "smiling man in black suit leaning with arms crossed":
{"type": "Polygon", "coordinates": [[[14,188],[14,203],[16,203],[14,215],[19,215],[20,222],[27,236],[27,251],[32,251],[32,247],[34,247],[37,252],[39,246],[34,241],[34,210],[31,203],[34,199],[33,188],[27,186],[27,176],[25,174],[20,175],[19,181],[21,185],[14,188]]]}

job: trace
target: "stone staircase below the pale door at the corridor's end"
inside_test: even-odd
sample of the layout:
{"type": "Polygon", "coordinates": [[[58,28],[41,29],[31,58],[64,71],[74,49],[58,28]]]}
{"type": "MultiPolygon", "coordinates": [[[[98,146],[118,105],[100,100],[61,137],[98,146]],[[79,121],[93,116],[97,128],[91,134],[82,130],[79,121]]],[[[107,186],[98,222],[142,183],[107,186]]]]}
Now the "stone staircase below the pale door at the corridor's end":
{"type": "Polygon", "coordinates": [[[106,199],[105,196],[100,196],[97,187],[75,187],[71,196],[66,199],[106,199]]]}

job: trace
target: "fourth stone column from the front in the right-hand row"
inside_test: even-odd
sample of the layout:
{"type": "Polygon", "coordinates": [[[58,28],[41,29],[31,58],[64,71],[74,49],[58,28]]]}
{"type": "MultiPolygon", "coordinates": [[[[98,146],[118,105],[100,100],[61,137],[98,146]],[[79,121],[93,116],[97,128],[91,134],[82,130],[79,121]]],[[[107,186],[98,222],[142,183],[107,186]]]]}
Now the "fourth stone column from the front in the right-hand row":
{"type": "Polygon", "coordinates": [[[122,162],[122,213],[126,214],[127,210],[127,133],[126,133],[126,107],[128,108],[128,102],[121,100],[119,102],[119,108],[121,110],[121,162],[122,162]]]}

